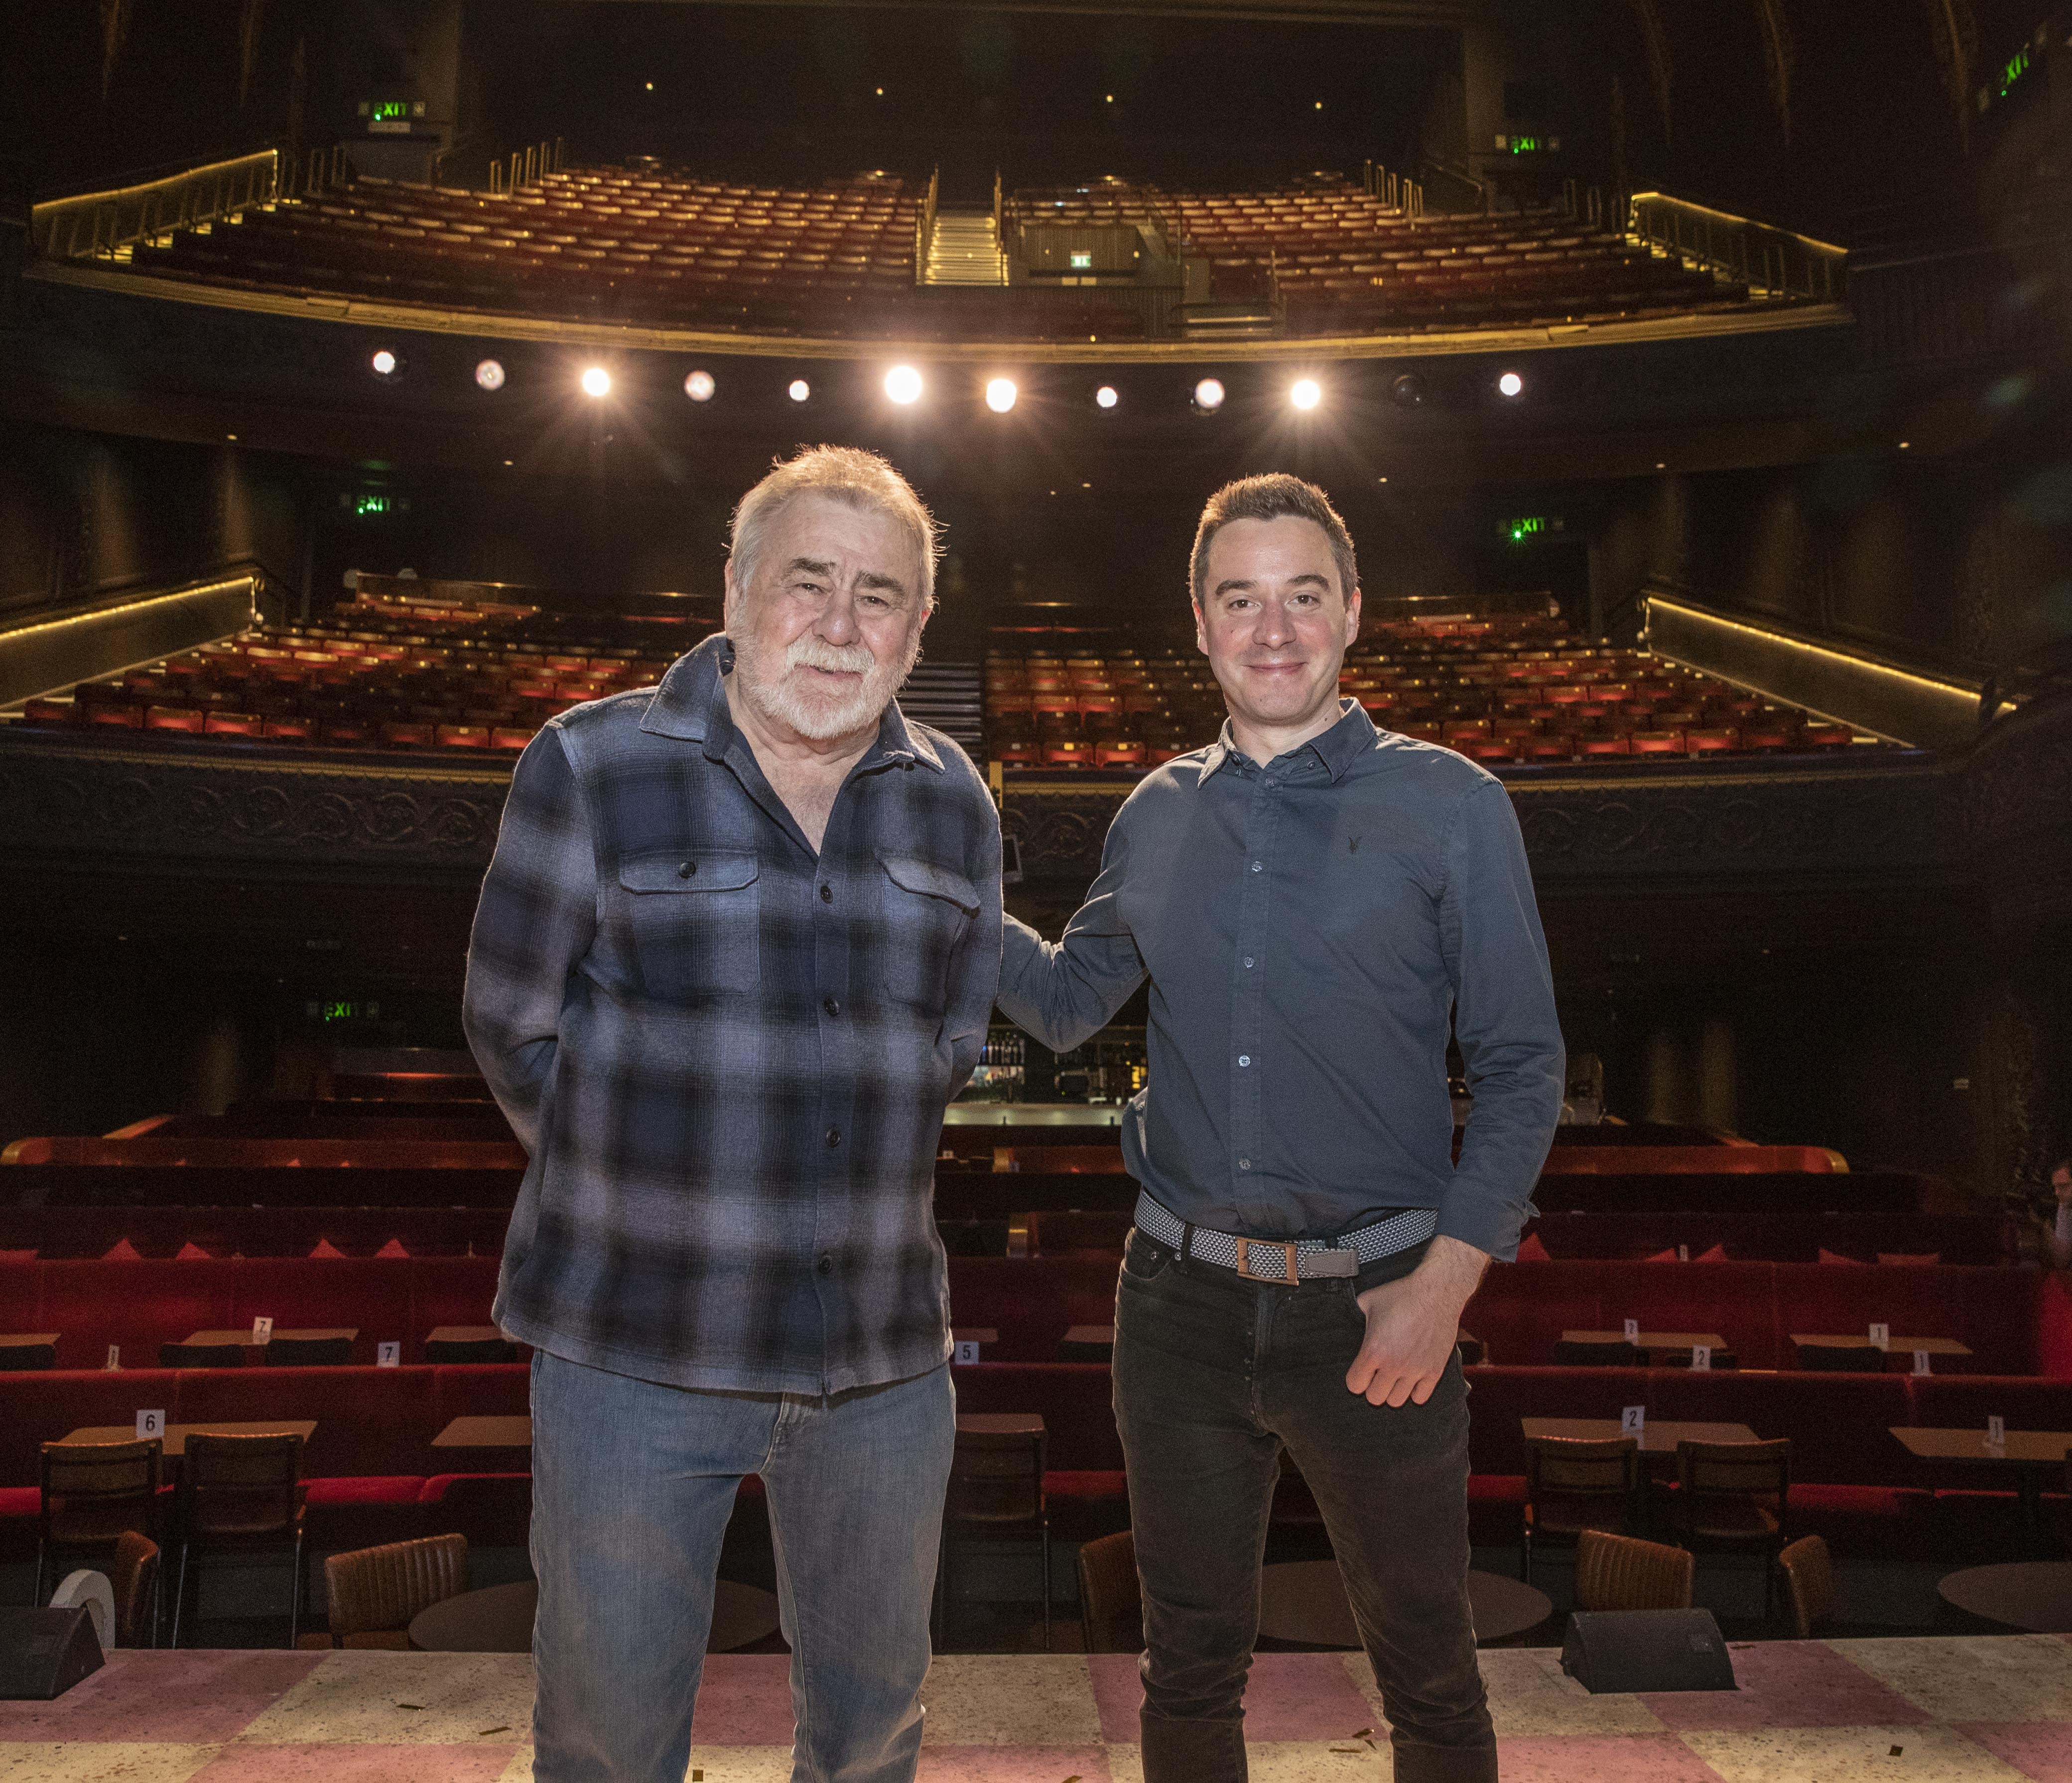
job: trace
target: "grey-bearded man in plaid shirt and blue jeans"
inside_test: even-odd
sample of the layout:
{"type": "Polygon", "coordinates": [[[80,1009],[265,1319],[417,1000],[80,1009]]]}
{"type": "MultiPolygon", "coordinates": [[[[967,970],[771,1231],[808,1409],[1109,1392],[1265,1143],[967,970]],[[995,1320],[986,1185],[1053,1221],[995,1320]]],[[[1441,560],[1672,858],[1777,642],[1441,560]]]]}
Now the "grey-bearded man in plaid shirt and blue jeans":
{"type": "Polygon", "coordinates": [[[999,977],[999,819],[893,692],[934,525],[818,448],[733,516],[725,634],[518,761],[466,1030],[530,1153],[533,1775],[682,1783],[736,1489],[794,1777],[905,1783],[955,1443],[932,1173],[999,977]]]}

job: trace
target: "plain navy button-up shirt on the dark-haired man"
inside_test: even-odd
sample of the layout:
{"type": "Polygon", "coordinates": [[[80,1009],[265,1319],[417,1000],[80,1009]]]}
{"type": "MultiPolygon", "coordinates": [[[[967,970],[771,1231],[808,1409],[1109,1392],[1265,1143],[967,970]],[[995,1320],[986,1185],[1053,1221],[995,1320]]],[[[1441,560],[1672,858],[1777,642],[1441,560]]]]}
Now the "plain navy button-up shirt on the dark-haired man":
{"type": "Polygon", "coordinates": [[[1508,1261],[1562,1101],[1519,823],[1496,775],[1341,707],[1264,767],[1225,726],[1148,773],[1063,943],[1007,918],[999,1001],[1063,1051],[1150,979],[1123,1159],[1181,1219],[1332,1238],[1434,1207],[1508,1261]],[[1448,1020],[1475,1099],[1459,1163],[1448,1020]]]}

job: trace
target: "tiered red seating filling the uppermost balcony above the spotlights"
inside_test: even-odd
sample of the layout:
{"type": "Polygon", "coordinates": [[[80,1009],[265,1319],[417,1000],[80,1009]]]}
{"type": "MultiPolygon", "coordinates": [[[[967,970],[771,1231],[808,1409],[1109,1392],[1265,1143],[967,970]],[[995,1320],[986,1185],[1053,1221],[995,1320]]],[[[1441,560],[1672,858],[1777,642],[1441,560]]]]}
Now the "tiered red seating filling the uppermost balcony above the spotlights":
{"type": "MultiPolygon", "coordinates": [[[[1135,309],[1021,288],[916,284],[922,195],[885,174],[821,189],[661,170],[562,170],[512,193],[356,178],[139,245],[162,278],[756,334],[1071,340],[1142,332],[1135,309]]],[[[1013,224],[1158,220],[1210,263],[1216,303],[1278,299],[1289,332],[1500,328],[1751,303],[1740,284],[1566,216],[1411,220],[1339,176],[1283,191],[1104,182],[1013,193],[1013,224]]],[[[1013,230],[1009,230],[1013,240],[1013,230]]]]}

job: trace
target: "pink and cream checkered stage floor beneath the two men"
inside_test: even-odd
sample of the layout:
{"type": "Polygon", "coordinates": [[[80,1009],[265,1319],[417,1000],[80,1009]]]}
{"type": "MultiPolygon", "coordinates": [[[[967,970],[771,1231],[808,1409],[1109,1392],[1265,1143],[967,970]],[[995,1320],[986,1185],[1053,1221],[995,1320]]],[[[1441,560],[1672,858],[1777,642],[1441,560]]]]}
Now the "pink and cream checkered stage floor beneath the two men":
{"type": "MultiPolygon", "coordinates": [[[[787,1783],[783,1654],[715,1657],[692,1764],[787,1783]]],[[[1481,1654],[1506,1783],[2072,1783],[2072,1638],[1765,1642],[1738,1692],[1587,1696],[1552,1648],[1481,1654]]],[[[939,1659],[924,1783],[1135,1783],[1127,1657],[939,1659]]],[[[0,1702],[0,1783],[528,1779],[524,1654],[114,1652],[56,1702],[0,1702]]],[[[1384,1779],[1359,1654],[1264,1654],[1258,1783],[1384,1779]]]]}

